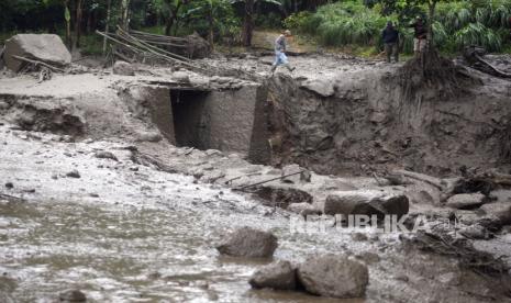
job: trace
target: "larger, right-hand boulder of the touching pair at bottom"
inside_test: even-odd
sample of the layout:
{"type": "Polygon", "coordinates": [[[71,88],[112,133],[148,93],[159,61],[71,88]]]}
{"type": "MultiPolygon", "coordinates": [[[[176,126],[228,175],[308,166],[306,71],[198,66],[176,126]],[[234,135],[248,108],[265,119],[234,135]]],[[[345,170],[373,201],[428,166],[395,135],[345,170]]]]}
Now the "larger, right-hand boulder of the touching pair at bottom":
{"type": "Polygon", "coordinates": [[[364,296],[369,271],[360,262],[343,256],[310,258],[298,267],[298,279],[312,294],[333,298],[364,296]]]}

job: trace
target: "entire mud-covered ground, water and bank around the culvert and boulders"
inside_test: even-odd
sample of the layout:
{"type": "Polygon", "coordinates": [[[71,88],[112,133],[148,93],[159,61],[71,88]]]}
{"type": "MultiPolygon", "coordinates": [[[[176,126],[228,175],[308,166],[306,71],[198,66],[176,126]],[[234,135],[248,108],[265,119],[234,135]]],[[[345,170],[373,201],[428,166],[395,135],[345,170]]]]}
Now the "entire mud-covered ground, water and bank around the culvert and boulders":
{"type": "MultiPolygon", "coordinates": [[[[214,249],[227,232],[248,225],[277,235],[276,259],[298,262],[335,252],[366,263],[366,298],[346,302],[510,301],[509,226],[464,236],[460,231],[487,222],[488,214],[447,207],[442,188],[431,182],[406,178],[392,184],[382,177],[407,168],[447,184],[462,166],[508,172],[501,138],[511,119],[511,82],[470,70],[481,82],[457,99],[420,92],[402,103],[392,80],[399,65],[300,56],[291,58],[293,75],[270,77],[270,59],[203,61],[253,72],[269,88],[267,127],[276,144],[267,164],[229,150],[176,147],[124,98],[129,89],[175,79],[176,68],[137,66],[137,76],[130,77],[75,67],[77,75],[42,83],[31,75],[3,74],[0,299],[52,302],[58,292],[79,288],[92,302],[318,300],[249,290],[248,277],[260,263],[225,259],[214,249]],[[310,169],[311,181],[235,190],[278,179],[291,162],[310,169]],[[427,215],[432,225],[454,215],[456,227],[434,234],[470,249],[438,248],[414,234],[290,233],[297,214],[288,204],[309,201],[322,210],[329,194],[353,190],[404,194],[410,213],[427,215]],[[487,263],[467,261],[467,251],[475,263],[487,263]]],[[[188,75],[195,86],[220,91],[254,85],[188,75]]],[[[506,187],[487,195],[492,203],[511,203],[506,187]]]]}

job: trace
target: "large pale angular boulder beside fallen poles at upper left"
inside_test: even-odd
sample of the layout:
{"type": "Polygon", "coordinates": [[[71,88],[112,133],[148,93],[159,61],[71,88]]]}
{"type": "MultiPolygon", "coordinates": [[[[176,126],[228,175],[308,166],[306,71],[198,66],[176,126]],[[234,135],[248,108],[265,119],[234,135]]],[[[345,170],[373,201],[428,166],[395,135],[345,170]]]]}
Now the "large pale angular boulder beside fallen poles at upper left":
{"type": "Polygon", "coordinates": [[[5,42],[3,60],[5,66],[18,72],[24,63],[12,56],[36,59],[55,66],[67,66],[71,54],[62,38],[53,34],[18,34],[5,42]]]}

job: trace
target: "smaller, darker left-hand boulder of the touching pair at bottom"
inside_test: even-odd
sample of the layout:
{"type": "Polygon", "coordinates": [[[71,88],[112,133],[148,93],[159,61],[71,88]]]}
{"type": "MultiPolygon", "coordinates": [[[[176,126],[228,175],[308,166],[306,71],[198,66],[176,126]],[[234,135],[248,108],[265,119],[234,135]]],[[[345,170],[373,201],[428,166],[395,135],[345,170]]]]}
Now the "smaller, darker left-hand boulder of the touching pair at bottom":
{"type": "Polygon", "coordinates": [[[289,261],[277,261],[257,270],[248,283],[255,289],[296,290],[296,270],[289,261]]]}

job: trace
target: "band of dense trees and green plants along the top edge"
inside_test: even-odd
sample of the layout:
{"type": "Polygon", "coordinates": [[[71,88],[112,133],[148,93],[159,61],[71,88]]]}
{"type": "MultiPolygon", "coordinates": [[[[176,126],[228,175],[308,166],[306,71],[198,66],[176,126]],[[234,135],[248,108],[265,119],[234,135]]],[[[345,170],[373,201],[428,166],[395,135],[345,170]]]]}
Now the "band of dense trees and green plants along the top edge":
{"type": "Polygon", "coordinates": [[[93,32],[107,24],[111,31],[124,24],[170,35],[196,31],[211,42],[245,45],[256,26],[286,26],[325,46],[375,46],[378,52],[390,20],[398,24],[403,49],[411,52],[408,25],[416,15],[427,20],[432,2],[434,41],[442,50],[511,49],[511,0],[9,0],[0,1],[0,32],[58,33],[69,46],[87,49],[100,44],[93,32]]]}

